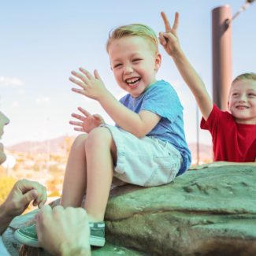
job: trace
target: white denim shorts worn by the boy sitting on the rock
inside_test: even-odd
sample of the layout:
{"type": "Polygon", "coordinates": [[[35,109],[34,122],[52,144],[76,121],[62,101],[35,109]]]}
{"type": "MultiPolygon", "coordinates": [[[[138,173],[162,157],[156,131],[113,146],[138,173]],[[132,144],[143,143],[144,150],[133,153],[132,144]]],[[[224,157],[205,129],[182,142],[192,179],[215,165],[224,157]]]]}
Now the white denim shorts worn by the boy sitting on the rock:
{"type": "Polygon", "coordinates": [[[137,138],[121,128],[103,124],[117,147],[113,176],[128,184],[143,187],[170,183],[180,170],[182,157],[173,145],[146,136],[137,138]]]}

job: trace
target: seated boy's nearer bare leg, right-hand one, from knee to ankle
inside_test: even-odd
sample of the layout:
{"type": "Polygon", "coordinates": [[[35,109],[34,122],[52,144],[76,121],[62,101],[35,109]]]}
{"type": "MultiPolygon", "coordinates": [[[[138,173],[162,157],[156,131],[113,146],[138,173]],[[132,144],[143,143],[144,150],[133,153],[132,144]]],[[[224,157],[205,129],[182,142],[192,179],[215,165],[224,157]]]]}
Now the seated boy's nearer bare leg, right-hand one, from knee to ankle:
{"type": "Polygon", "coordinates": [[[89,221],[103,221],[113,178],[117,149],[107,128],[96,128],[85,143],[87,157],[87,195],[85,210],[89,221]]]}

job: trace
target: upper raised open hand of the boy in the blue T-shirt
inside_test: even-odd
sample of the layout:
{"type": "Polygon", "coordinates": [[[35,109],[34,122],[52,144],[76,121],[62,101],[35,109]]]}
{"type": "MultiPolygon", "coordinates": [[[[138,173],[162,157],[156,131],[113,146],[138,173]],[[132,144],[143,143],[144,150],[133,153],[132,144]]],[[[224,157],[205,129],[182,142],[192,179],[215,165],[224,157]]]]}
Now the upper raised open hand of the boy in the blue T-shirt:
{"type": "Polygon", "coordinates": [[[72,83],[79,85],[82,89],[72,88],[72,91],[80,93],[81,95],[85,95],[89,98],[93,98],[95,100],[101,98],[107,90],[100,76],[98,75],[98,71],[95,70],[95,76],[92,76],[91,73],[86,69],[80,68],[79,70],[80,72],[71,72],[72,75],[76,76],[78,79],[69,77],[69,80],[72,83]]]}

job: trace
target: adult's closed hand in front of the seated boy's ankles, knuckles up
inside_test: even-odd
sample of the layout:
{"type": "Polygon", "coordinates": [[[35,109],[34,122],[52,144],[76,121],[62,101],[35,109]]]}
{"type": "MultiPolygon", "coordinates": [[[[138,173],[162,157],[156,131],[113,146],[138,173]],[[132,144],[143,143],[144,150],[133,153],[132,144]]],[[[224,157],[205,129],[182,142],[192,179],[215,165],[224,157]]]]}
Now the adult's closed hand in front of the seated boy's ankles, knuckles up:
{"type": "Polygon", "coordinates": [[[90,228],[83,208],[50,206],[36,215],[36,232],[41,247],[53,255],[91,255],[90,228]]]}

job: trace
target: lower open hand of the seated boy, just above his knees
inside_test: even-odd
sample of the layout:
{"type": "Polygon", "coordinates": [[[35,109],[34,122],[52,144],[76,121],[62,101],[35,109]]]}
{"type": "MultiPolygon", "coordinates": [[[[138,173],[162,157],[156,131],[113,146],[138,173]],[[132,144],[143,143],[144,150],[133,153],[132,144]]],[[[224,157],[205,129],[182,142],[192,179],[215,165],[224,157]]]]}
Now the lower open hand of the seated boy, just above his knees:
{"type": "Polygon", "coordinates": [[[72,113],[72,117],[75,117],[76,119],[80,121],[69,121],[69,124],[76,125],[74,128],[75,131],[79,132],[91,132],[92,129],[97,128],[101,124],[105,124],[105,121],[103,118],[98,115],[91,115],[91,113],[87,112],[85,109],[78,107],[78,110],[83,113],[83,116],[80,116],[79,114],[72,113]]]}

